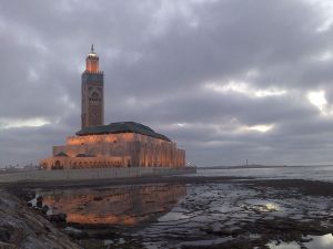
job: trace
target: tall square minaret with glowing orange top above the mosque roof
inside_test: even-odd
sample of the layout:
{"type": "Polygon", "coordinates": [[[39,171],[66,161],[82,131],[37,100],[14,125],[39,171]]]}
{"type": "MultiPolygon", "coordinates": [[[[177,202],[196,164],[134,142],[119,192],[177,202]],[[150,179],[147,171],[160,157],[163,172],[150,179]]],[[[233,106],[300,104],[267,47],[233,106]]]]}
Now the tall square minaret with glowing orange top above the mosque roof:
{"type": "Polygon", "coordinates": [[[99,69],[99,56],[91,51],[85,59],[85,71],[82,73],[82,128],[104,124],[104,76],[99,69]]]}

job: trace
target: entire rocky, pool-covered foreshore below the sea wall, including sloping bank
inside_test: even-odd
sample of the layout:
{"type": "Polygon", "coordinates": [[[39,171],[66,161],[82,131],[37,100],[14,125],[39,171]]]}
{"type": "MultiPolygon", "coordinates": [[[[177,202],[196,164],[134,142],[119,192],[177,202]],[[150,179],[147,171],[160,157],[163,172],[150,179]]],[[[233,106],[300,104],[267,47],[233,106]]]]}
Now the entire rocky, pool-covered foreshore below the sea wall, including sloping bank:
{"type": "Polygon", "coordinates": [[[325,236],[333,245],[332,183],[180,176],[7,188],[0,188],[0,249],[331,248],[307,247],[325,236]],[[41,188],[39,208],[28,207],[41,188]],[[46,215],[46,205],[57,215],[46,215]],[[93,218],[65,221],[67,215],[93,218]]]}

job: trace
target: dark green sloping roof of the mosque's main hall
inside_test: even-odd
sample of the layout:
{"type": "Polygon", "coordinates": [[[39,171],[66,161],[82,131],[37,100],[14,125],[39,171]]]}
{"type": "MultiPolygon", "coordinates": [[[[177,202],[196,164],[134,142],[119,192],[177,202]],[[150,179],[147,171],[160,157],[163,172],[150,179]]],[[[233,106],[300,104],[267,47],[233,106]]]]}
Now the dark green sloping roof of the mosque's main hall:
{"type": "Polygon", "coordinates": [[[120,123],[111,123],[109,125],[85,127],[77,132],[77,135],[85,136],[85,135],[101,135],[101,134],[117,134],[117,133],[138,133],[138,134],[171,142],[167,136],[155,133],[150,127],[135,122],[120,122],[120,123]]]}

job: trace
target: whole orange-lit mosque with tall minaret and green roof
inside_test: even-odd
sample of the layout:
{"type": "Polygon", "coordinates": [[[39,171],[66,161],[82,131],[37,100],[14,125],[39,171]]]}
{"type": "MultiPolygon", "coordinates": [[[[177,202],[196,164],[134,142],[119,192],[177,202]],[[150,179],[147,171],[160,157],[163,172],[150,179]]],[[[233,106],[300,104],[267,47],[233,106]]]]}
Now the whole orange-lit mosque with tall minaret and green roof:
{"type": "Polygon", "coordinates": [[[81,80],[81,131],[53,146],[43,169],[184,167],[185,151],[167,136],[135,122],[104,125],[104,77],[91,46],[81,80]]]}

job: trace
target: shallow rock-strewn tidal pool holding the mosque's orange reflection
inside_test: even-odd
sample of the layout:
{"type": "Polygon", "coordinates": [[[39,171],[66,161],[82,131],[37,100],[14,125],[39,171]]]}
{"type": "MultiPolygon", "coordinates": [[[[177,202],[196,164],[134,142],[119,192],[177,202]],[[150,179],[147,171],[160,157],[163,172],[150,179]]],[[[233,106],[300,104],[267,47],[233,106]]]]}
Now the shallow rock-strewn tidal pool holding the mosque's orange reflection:
{"type": "Polygon", "coordinates": [[[327,235],[333,230],[332,198],[295,189],[233,181],[40,189],[37,194],[52,214],[67,214],[68,226],[85,229],[85,240],[94,238],[84,248],[93,248],[90,245],[97,241],[99,248],[133,249],[333,248],[327,235]],[[97,231],[98,232],[117,227],[115,234],[93,237],[97,231]]]}

